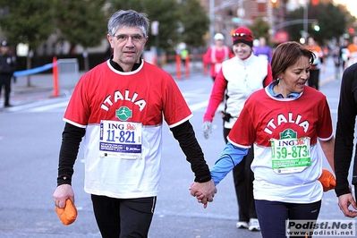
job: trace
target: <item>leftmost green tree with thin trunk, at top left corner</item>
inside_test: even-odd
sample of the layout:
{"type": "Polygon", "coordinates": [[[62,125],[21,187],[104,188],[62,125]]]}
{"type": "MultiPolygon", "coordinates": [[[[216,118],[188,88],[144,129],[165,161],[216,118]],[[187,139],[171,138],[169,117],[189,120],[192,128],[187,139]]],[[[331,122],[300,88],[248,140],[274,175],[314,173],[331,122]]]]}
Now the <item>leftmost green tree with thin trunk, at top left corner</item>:
{"type": "MultiPolygon", "coordinates": [[[[1,0],[4,14],[0,16],[0,26],[4,35],[13,45],[25,43],[30,51],[36,49],[54,32],[53,0],[1,0]]],[[[31,68],[30,55],[27,68],[31,68]]],[[[30,76],[27,85],[30,87],[30,76]]]]}

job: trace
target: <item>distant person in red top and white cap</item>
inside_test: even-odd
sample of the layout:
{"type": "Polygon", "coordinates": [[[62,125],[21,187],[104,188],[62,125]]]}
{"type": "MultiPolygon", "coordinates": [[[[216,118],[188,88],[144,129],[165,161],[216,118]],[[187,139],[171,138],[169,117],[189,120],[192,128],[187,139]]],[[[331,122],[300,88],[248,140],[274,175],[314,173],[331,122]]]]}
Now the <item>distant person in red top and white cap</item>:
{"type": "Polygon", "coordinates": [[[215,45],[209,47],[206,54],[203,55],[204,63],[210,65],[209,72],[213,81],[222,67],[222,62],[234,57],[232,49],[225,46],[225,36],[222,33],[217,33],[214,39],[215,45]]]}

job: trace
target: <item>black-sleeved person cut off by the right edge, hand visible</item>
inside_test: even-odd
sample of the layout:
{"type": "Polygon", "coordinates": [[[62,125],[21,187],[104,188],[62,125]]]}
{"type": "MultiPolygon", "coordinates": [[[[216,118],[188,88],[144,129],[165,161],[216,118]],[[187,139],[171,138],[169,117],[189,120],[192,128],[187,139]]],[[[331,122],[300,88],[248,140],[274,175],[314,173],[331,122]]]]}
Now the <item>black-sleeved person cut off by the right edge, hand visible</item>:
{"type": "Polygon", "coordinates": [[[346,68],[341,81],[340,100],[338,104],[336,142],[335,142],[335,173],[336,195],[338,206],[345,217],[357,217],[357,163],[354,156],[352,184],[354,199],[348,174],[353,160],[354,125],[357,115],[357,63],[346,68]],[[353,209],[350,209],[350,205],[353,209]]]}

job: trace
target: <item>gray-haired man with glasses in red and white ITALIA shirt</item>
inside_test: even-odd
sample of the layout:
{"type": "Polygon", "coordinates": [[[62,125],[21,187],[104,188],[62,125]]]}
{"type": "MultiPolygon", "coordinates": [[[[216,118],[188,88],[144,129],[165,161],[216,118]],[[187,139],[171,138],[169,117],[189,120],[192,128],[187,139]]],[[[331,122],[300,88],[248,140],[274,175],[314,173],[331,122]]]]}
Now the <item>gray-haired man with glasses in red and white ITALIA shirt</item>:
{"type": "Polygon", "coordinates": [[[160,180],[163,119],[191,163],[207,206],[217,192],[189,122],[191,110],[173,77],[140,58],[145,13],[119,11],[108,21],[114,55],[85,73],[64,114],[55,206],[72,200],[73,165],[84,136],[84,190],[102,237],[148,237],[160,180]]]}

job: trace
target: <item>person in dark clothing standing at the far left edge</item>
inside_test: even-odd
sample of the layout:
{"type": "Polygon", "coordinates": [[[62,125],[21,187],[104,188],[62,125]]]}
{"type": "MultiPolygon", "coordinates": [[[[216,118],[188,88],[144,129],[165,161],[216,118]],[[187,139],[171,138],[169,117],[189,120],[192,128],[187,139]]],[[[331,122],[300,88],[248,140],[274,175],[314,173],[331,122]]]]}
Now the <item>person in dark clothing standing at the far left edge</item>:
{"type": "Polygon", "coordinates": [[[15,61],[9,53],[9,45],[3,40],[0,47],[0,94],[4,86],[4,107],[10,107],[11,79],[15,71],[15,61]]]}

